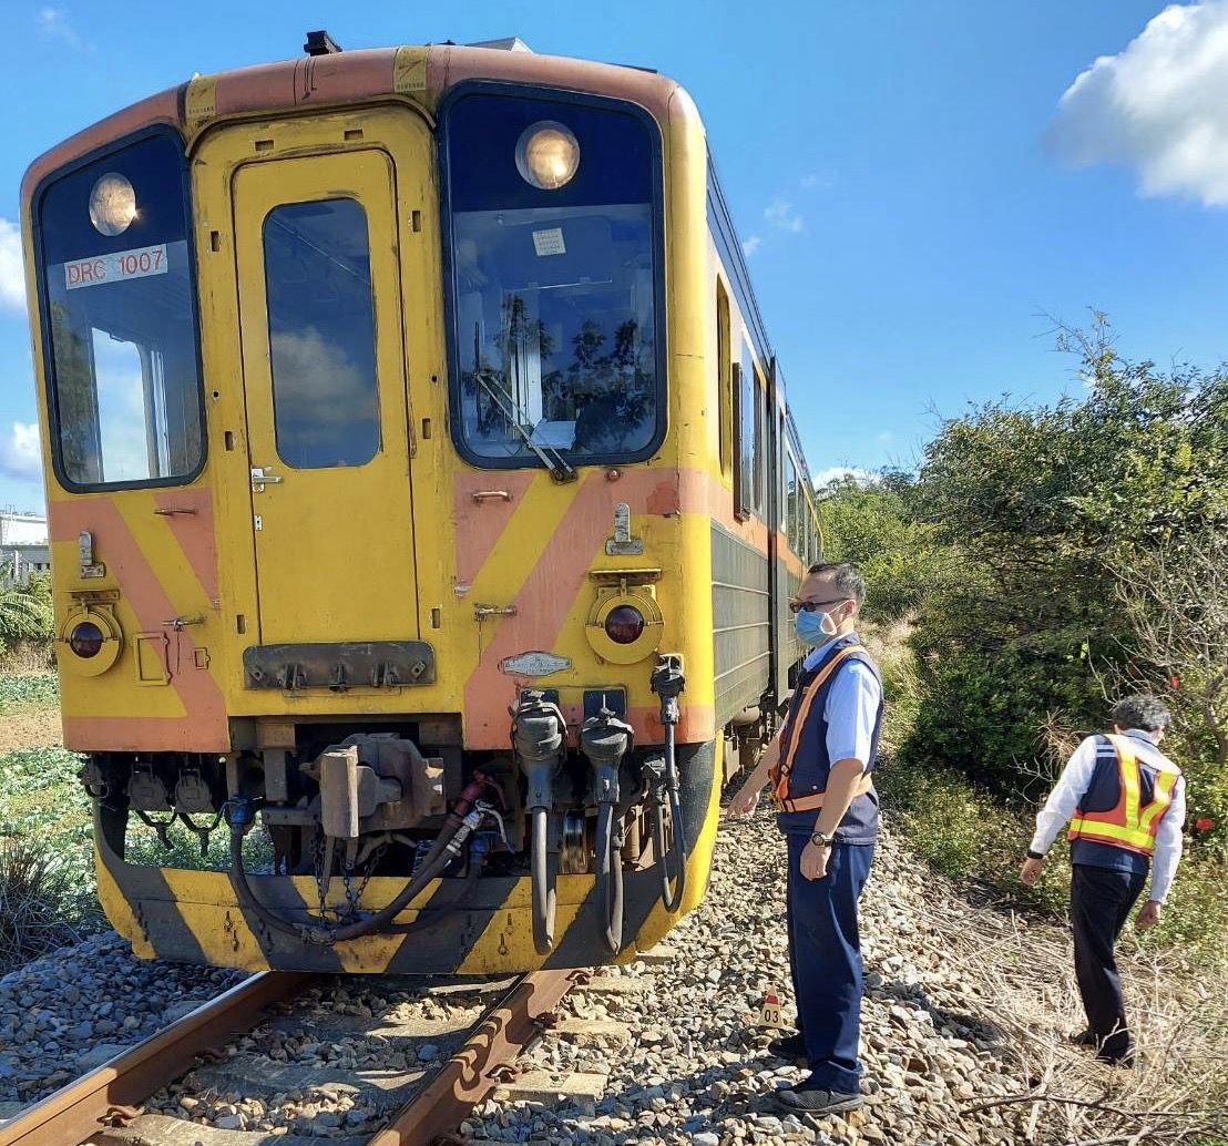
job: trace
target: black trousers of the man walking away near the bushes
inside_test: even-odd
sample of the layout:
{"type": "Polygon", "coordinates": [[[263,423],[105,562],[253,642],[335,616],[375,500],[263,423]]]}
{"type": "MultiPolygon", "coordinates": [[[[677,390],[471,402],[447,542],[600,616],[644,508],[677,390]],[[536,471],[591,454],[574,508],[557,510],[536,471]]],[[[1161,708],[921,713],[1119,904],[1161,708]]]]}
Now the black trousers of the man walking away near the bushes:
{"type": "Polygon", "coordinates": [[[1146,872],[1087,863],[1076,863],[1073,868],[1074,975],[1087,1011],[1087,1029],[1100,1044],[1102,1059],[1120,1059],[1133,1049],[1113,948],[1146,882],[1146,872]]]}

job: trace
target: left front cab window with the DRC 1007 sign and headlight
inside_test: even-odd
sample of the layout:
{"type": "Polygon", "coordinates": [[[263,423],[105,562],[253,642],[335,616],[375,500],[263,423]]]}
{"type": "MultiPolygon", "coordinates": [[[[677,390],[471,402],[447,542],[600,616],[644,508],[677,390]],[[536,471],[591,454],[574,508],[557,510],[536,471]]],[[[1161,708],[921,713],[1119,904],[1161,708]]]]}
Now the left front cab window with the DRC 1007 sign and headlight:
{"type": "Polygon", "coordinates": [[[37,201],[53,458],[69,489],[182,484],[204,464],[183,162],[155,134],[37,201]]]}

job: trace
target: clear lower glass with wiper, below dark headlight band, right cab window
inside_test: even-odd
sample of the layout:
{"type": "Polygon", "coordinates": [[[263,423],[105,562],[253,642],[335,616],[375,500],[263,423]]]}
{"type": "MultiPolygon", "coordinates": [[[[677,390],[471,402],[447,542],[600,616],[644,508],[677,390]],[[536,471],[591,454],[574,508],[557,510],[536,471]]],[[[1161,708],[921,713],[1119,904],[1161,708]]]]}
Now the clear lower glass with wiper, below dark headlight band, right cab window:
{"type": "Polygon", "coordinates": [[[643,450],[657,420],[647,205],[474,211],[454,233],[469,448],[643,450]]]}

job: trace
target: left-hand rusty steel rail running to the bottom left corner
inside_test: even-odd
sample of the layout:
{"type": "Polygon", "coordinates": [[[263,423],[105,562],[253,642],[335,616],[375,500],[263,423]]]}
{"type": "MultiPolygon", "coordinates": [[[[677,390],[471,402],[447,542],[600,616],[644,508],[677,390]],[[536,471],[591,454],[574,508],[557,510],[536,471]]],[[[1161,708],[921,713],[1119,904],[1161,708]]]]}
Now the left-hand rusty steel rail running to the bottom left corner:
{"type": "Polygon", "coordinates": [[[189,1071],[198,1054],[254,1027],[265,1007],[319,976],[260,972],[201,1004],[169,1027],[0,1124],[0,1146],[75,1146],[189,1071]]]}

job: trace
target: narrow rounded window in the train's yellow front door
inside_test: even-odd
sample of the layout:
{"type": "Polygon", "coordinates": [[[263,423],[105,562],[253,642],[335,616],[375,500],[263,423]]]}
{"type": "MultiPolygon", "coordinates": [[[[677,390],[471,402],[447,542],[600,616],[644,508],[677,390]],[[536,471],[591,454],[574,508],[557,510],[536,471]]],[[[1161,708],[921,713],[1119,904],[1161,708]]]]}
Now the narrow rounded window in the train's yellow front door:
{"type": "Polygon", "coordinates": [[[297,469],[379,450],[367,216],[354,199],[289,203],[264,220],[278,453],[297,469]]]}

